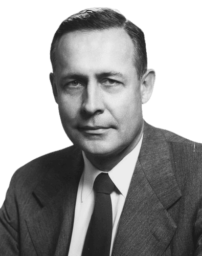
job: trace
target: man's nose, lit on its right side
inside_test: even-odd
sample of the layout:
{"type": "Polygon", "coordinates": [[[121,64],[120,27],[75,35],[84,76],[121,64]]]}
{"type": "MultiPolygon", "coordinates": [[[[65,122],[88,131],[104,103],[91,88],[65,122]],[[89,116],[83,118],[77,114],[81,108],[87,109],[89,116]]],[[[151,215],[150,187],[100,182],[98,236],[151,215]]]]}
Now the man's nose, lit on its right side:
{"type": "Polygon", "coordinates": [[[101,88],[96,83],[88,83],[83,93],[82,111],[89,115],[104,112],[101,88]]]}

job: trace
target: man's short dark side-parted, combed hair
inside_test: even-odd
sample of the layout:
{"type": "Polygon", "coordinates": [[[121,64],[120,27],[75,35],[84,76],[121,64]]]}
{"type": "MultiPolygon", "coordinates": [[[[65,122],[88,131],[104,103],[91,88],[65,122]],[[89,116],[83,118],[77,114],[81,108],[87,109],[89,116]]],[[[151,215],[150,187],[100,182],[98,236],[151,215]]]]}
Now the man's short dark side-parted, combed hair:
{"type": "Polygon", "coordinates": [[[50,50],[50,59],[53,72],[56,66],[55,52],[61,36],[71,31],[104,30],[110,28],[123,28],[132,39],[134,45],[134,66],[140,80],[147,71],[147,50],[144,32],[130,20],[111,8],[89,8],[77,12],[63,20],[56,30],[50,50]]]}

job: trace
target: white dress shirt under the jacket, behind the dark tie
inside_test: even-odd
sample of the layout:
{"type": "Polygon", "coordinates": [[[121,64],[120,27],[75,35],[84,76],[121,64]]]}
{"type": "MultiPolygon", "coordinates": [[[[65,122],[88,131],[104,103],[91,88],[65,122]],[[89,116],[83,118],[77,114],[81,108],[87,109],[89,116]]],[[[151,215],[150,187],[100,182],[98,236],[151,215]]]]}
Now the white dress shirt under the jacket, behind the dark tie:
{"type": "MultiPolygon", "coordinates": [[[[132,174],[140,153],[142,138],[143,135],[137,146],[108,172],[110,179],[120,191],[120,194],[113,191],[110,195],[113,210],[113,231],[110,255],[112,253],[119,219],[128,193],[132,174]]],[[[93,190],[94,181],[100,173],[103,173],[86,158],[84,152],[82,153],[84,158],[84,171],[77,191],[74,226],[68,256],[81,256],[82,254],[87,228],[95,205],[95,192],[93,190]]]]}

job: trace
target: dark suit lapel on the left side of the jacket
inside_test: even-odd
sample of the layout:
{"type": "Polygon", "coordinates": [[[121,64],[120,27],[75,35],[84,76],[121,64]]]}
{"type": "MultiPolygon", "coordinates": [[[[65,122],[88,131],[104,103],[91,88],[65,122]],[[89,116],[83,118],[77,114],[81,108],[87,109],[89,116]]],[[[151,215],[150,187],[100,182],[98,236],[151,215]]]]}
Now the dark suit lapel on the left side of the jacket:
{"type": "Polygon", "coordinates": [[[56,157],[33,197],[37,201],[26,219],[37,255],[68,255],[78,183],[83,170],[81,151],[56,157]]]}

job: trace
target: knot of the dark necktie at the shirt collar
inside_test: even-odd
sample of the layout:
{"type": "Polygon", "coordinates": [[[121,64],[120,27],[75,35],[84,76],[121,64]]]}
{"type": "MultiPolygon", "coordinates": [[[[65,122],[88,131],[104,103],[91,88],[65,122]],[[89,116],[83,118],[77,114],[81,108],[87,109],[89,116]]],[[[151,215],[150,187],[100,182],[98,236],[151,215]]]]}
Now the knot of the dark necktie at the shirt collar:
{"type": "Polygon", "coordinates": [[[93,187],[97,193],[111,194],[115,189],[115,184],[108,174],[101,173],[96,177],[93,187]]]}

